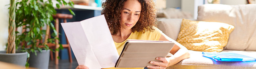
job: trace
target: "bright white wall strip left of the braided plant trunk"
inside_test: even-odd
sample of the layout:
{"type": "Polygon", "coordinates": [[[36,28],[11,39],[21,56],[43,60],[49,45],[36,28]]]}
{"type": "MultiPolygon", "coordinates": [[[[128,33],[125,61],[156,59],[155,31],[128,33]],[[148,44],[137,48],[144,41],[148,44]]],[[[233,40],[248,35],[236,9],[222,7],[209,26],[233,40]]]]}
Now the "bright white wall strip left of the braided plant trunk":
{"type": "Polygon", "coordinates": [[[6,4],[10,4],[10,0],[0,0],[0,51],[5,50],[8,39],[9,6],[6,4]]]}

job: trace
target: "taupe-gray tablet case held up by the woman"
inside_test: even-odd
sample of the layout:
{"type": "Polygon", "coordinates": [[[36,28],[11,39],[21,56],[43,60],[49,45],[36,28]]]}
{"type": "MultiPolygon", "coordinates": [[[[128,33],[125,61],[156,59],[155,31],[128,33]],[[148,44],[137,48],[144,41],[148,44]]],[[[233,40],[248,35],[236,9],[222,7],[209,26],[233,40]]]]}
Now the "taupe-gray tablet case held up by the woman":
{"type": "Polygon", "coordinates": [[[174,43],[171,41],[127,40],[115,67],[146,67],[156,57],[166,57],[174,43]]]}

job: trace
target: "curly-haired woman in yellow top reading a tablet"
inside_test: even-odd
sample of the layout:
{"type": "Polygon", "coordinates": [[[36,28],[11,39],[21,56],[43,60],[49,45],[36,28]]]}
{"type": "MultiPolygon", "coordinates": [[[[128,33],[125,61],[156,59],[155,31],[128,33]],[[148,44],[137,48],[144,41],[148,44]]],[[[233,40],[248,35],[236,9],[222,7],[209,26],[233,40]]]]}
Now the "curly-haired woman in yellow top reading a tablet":
{"type": "MultiPolygon", "coordinates": [[[[171,57],[156,57],[157,60],[150,61],[154,66],[152,69],[165,69],[170,65],[189,58],[186,47],[169,38],[161,30],[155,27],[156,13],[153,0],[106,0],[103,4],[102,14],[105,15],[109,30],[120,55],[125,42],[128,39],[141,40],[164,40],[175,43],[170,53],[171,57]]],[[[78,65],[77,69],[88,69],[85,65],[78,65]]],[[[107,69],[129,69],[129,68],[107,68],[107,69]]],[[[130,68],[143,69],[143,68],[130,68]]]]}

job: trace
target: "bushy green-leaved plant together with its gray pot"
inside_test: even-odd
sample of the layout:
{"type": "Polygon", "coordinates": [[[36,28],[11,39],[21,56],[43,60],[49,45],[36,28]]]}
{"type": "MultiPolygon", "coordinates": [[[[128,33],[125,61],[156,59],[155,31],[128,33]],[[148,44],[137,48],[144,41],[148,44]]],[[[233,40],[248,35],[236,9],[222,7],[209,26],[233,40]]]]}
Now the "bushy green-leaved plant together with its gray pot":
{"type": "MultiPolygon", "coordinates": [[[[73,2],[69,3],[64,0],[56,0],[57,8],[60,8],[60,5],[71,6],[73,7],[73,2]]],[[[23,26],[24,32],[21,35],[16,35],[16,46],[20,45],[22,51],[27,51],[30,57],[27,59],[26,67],[36,67],[36,68],[48,68],[49,64],[49,47],[46,43],[55,43],[55,39],[44,39],[46,30],[41,30],[44,26],[49,26],[53,30],[52,37],[55,37],[58,32],[56,32],[54,25],[51,23],[54,21],[52,15],[56,14],[56,10],[53,7],[52,0],[21,0],[17,2],[16,5],[16,28],[23,26]],[[44,39],[44,42],[41,43],[39,40],[44,39]],[[43,47],[42,47],[43,46],[43,47]],[[44,60],[43,60],[44,59],[44,60]]],[[[70,10],[70,13],[74,15],[74,12],[70,10]]],[[[62,49],[62,45],[55,49],[59,51],[62,49]]],[[[54,52],[54,50],[52,50],[54,52]]]]}

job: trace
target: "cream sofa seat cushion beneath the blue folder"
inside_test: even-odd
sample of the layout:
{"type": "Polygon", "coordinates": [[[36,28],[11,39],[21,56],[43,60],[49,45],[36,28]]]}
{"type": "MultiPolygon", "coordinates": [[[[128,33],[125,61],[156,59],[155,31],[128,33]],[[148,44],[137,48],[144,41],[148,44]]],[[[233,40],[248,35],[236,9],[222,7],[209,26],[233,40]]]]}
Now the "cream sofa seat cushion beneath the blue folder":
{"type": "MultiPolygon", "coordinates": [[[[222,52],[231,52],[251,56],[256,58],[256,51],[236,51],[223,50],[222,52]]],[[[256,61],[246,62],[220,62],[202,56],[202,52],[189,50],[190,58],[180,61],[178,64],[169,66],[166,69],[255,69],[256,61]]]]}

